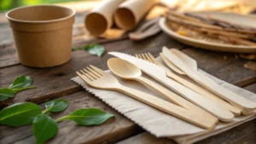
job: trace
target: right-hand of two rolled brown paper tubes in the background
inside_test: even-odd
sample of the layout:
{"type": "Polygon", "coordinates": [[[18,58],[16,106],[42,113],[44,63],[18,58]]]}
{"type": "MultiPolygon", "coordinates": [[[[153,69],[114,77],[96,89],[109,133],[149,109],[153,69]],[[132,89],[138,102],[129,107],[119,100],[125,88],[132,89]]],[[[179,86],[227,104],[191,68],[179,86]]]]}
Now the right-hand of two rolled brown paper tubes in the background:
{"type": "Polygon", "coordinates": [[[130,30],[160,0],[127,0],[114,13],[114,22],[119,28],[130,30]]]}

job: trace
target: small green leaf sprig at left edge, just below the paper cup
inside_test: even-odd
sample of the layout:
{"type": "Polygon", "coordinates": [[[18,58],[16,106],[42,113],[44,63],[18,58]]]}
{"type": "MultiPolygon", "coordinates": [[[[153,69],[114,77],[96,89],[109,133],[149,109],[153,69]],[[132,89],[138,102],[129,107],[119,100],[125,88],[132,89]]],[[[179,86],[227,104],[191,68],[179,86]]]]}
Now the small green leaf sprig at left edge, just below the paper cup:
{"type": "Polygon", "coordinates": [[[8,88],[0,89],[0,101],[15,97],[15,95],[22,90],[36,88],[36,86],[29,87],[32,82],[33,80],[31,77],[20,75],[20,77],[15,78],[14,82],[10,84],[8,88]]]}

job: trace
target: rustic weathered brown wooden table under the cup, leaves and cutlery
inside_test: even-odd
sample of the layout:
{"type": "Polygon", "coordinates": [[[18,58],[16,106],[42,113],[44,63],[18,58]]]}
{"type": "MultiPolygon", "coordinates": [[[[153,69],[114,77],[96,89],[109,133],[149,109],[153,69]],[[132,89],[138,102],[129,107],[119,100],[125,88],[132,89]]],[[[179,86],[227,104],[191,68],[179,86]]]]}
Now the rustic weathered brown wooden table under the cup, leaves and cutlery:
{"type": "MultiPolygon", "coordinates": [[[[3,16],[3,15],[2,15],[3,16]]],[[[83,26],[84,14],[76,15],[77,26],[83,26]]],[[[82,36],[80,30],[83,27],[74,28],[74,37],[82,36]]],[[[90,55],[85,51],[74,51],[72,60],[62,66],[52,68],[30,68],[19,64],[15,56],[15,45],[11,36],[11,31],[6,20],[0,19],[0,87],[8,87],[13,79],[23,74],[32,76],[37,89],[29,89],[16,95],[14,102],[32,101],[40,104],[44,109],[44,102],[61,97],[69,101],[69,107],[66,111],[52,114],[53,118],[59,118],[67,115],[76,109],[84,107],[101,108],[115,115],[115,118],[100,126],[83,127],[73,122],[64,121],[59,124],[59,133],[48,143],[119,143],[119,144],[173,144],[174,141],[167,139],[157,139],[154,135],[140,128],[128,118],[125,118],[119,112],[108,107],[105,103],[90,95],[79,85],[73,84],[70,78],[76,76],[75,71],[94,65],[108,69],[107,60],[111,57],[108,51],[120,51],[135,55],[137,53],[150,52],[154,56],[159,55],[162,46],[168,48],[181,49],[184,53],[191,56],[198,62],[198,66],[230,84],[236,84],[239,87],[256,93],[256,72],[247,70],[242,65],[247,60],[237,58],[235,54],[226,54],[212,52],[202,49],[193,49],[182,43],[178,43],[165,33],[161,32],[157,36],[149,37],[142,42],[131,42],[127,37],[120,40],[108,42],[97,39],[96,43],[102,43],[107,52],[102,57],[90,55]]],[[[83,37],[73,40],[73,46],[82,46],[88,44],[83,37]]],[[[36,49],[36,48],[35,48],[36,49]]],[[[1,103],[3,107],[3,103],[1,103]]],[[[0,143],[34,143],[35,138],[32,135],[32,126],[22,126],[11,128],[0,126],[0,143]]],[[[256,119],[241,124],[240,126],[228,130],[220,135],[215,135],[198,143],[256,143],[256,119]]]]}

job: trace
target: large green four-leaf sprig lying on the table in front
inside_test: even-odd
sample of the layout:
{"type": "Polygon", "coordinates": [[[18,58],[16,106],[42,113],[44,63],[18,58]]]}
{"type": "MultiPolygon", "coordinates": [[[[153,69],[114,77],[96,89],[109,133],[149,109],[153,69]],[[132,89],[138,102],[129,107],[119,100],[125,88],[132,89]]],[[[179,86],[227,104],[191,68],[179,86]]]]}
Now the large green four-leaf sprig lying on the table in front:
{"type": "Polygon", "coordinates": [[[32,102],[21,102],[3,108],[0,112],[0,124],[8,126],[22,126],[32,124],[33,135],[36,143],[41,144],[53,138],[58,133],[58,122],[72,120],[76,124],[89,126],[98,125],[113,117],[113,114],[96,108],[82,108],[67,116],[53,119],[46,115],[47,112],[61,112],[67,109],[68,101],[55,99],[45,103],[46,109],[32,102]]]}

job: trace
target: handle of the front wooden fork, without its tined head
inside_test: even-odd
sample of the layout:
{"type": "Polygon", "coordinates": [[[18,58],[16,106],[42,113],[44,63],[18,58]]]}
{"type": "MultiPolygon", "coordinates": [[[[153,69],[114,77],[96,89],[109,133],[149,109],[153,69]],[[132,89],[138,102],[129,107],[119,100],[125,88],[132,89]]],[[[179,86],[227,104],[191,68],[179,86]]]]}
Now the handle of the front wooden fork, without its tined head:
{"type": "Polygon", "coordinates": [[[162,112],[166,112],[175,116],[177,118],[183,119],[190,124],[195,124],[203,129],[212,130],[215,124],[218,122],[218,119],[206,118],[204,113],[196,113],[194,111],[189,111],[183,107],[178,107],[170,102],[164,101],[154,95],[149,95],[137,89],[131,89],[120,85],[115,90],[129,95],[132,98],[142,101],[143,103],[148,104],[151,107],[159,109],[162,112]]]}

